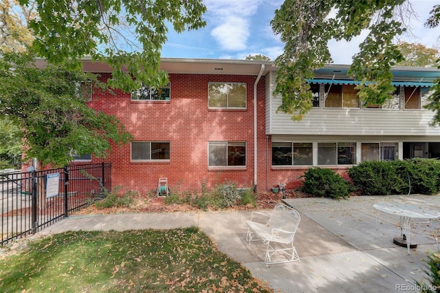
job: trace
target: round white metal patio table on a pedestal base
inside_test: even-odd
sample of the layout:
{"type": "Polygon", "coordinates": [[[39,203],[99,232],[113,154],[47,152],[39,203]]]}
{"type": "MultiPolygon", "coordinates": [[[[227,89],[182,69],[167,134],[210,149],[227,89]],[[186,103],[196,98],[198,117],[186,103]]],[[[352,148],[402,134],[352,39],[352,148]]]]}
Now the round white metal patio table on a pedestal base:
{"type": "Polygon", "coordinates": [[[395,237],[393,242],[399,246],[406,246],[406,248],[408,248],[408,254],[410,253],[410,248],[417,247],[417,244],[410,243],[411,219],[432,221],[440,217],[440,213],[437,210],[433,210],[427,206],[405,204],[403,202],[378,202],[377,204],[373,204],[373,207],[381,212],[400,217],[401,235],[400,237],[395,237]]]}

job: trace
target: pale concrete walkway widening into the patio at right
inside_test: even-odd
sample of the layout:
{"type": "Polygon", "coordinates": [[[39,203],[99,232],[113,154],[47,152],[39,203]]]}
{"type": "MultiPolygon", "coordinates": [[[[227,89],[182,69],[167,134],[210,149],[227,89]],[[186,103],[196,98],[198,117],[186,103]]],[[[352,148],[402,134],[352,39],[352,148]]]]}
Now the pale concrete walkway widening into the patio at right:
{"type": "Polygon", "coordinates": [[[393,243],[393,238],[400,236],[399,217],[373,208],[376,202],[392,201],[423,204],[440,211],[439,196],[285,199],[301,215],[295,236],[300,262],[270,266],[264,263],[265,246],[245,241],[245,221],[251,212],[78,216],[63,219],[41,232],[197,226],[217,243],[221,252],[267,281],[275,292],[419,292],[415,281],[426,279],[422,270],[426,268],[428,252],[438,250],[430,235],[433,231],[438,235],[439,231],[427,223],[412,221],[411,239],[418,246],[408,254],[406,248],[393,243]]]}

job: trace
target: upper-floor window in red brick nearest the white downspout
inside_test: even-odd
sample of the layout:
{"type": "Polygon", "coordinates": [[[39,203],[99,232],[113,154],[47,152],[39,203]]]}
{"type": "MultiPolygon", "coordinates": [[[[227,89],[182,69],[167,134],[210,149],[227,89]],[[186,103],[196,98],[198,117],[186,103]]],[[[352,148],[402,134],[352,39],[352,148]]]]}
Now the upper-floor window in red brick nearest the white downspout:
{"type": "Polygon", "coordinates": [[[208,107],[246,108],[246,84],[209,83],[208,107]]]}

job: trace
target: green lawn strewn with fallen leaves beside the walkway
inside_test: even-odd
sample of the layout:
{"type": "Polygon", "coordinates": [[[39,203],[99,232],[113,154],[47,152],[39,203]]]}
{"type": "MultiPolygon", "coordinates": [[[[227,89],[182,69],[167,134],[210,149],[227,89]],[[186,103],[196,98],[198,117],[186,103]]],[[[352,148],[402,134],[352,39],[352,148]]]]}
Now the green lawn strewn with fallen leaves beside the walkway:
{"type": "Polygon", "coordinates": [[[272,292],[197,228],[65,232],[0,260],[1,292],[272,292]]]}

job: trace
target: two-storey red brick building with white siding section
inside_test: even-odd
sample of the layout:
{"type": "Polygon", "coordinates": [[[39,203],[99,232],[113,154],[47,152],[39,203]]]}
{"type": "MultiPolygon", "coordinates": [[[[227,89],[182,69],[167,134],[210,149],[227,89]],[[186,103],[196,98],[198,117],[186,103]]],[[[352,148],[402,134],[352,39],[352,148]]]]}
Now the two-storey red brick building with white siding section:
{"type": "MultiPolygon", "coordinates": [[[[85,60],[84,66],[110,78],[106,65],[85,60]]],[[[134,138],[106,159],[113,186],[147,193],[166,177],[180,191],[225,180],[258,191],[281,182],[290,189],[311,166],[344,174],[362,160],[440,156],[440,131],[428,127],[434,114],[423,109],[437,69],[395,68],[393,105],[362,105],[348,66],[328,65],[310,80],[314,108],[294,122],[276,111],[281,98],[273,95],[270,61],[164,58],[161,67],[168,87],[96,91],[89,102],[116,116],[134,138]]],[[[93,154],[85,159],[100,162],[93,154]]]]}

